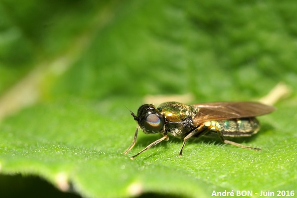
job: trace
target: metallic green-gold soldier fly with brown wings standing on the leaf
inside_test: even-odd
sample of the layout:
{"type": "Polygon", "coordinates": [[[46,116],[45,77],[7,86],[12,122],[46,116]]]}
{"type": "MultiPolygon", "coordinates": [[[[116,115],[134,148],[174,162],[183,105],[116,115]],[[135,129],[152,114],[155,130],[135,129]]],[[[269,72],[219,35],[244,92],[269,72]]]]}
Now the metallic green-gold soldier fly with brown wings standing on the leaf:
{"type": "Polygon", "coordinates": [[[153,104],[144,104],[139,107],[137,116],[130,111],[138,126],[132,144],[123,154],[127,154],[136,144],[139,129],[145,134],[160,133],[162,138],[148,145],[131,159],[163,140],[168,141],[168,134],[183,139],[179,156],[182,156],[183,148],[190,138],[198,138],[209,132],[217,133],[225,144],[260,150],[225,140],[225,137],[248,137],[257,133],[260,125],[255,116],[270,113],[274,109],[273,106],[257,102],[210,102],[194,105],[164,102],[157,108],[153,104]]]}

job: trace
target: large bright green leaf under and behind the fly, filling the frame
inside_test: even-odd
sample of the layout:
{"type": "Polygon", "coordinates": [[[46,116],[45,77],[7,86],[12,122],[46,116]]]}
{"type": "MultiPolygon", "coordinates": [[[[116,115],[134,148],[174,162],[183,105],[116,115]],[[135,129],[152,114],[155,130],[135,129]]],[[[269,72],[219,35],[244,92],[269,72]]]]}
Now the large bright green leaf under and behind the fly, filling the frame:
{"type": "Polygon", "coordinates": [[[296,90],[296,11],[293,0],[3,0],[1,173],[83,197],[296,193],[293,91],[259,118],[257,135],[234,139],[262,151],[203,137],[178,157],[182,141],[170,137],[131,160],[160,137],[140,132],[122,154],[136,128],[126,107],[136,112],[145,96],[199,103],[257,100],[279,82],[296,90]]]}

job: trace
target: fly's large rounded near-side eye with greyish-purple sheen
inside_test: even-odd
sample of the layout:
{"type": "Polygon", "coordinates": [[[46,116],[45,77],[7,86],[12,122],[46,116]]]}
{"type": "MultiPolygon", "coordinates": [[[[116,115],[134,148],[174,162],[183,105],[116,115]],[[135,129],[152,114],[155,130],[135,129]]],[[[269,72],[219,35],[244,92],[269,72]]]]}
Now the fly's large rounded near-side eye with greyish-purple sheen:
{"type": "Polygon", "coordinates": [[[143,124],[148,133],[158,133],[164,126],[163,120],[154,113],[149,114],[143,124]]]}

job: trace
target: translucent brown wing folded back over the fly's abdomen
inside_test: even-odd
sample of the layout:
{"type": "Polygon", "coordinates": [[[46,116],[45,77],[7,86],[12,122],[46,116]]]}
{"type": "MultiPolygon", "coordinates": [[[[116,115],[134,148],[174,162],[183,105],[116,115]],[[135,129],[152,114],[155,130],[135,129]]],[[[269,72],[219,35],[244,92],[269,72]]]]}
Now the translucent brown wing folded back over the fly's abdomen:
{"type": "Polygon", "coordinates": [[[198,113],[193,118],[196,123],[234,118],[255,117],[270,113],[275,108],[258,102],[210,102],[194,104],[198,113]]]}

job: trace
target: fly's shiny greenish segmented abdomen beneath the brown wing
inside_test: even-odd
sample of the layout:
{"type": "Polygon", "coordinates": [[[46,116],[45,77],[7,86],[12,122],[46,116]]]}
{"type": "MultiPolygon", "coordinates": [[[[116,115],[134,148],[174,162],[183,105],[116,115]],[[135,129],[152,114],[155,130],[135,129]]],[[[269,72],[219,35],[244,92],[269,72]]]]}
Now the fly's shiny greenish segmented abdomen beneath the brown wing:
{"type": "MultiPolygon", "coordinates": [[[[205,122],[207,126],[209,122],[205,122]]],[[[211,131],[221,131],[223,136],[230,137],[246,137],[251,136],[258,132],[260,124],[259,121],[254,118],[238,118],[230,120],[215,120],[211,121],[210,124],[214,126],[211,131]]]]}

